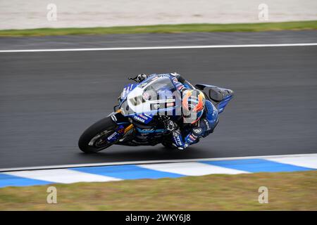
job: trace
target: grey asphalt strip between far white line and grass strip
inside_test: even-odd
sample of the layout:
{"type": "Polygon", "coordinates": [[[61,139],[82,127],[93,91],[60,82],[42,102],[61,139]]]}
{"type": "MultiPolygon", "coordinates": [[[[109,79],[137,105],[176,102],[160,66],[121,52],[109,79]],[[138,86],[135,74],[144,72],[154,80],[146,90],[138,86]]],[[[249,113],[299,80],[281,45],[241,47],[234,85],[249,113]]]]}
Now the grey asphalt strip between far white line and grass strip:
{"type": "Polygon", "coordinates": [[[0,50],[316,43],[316,30],[0,37],[0,50]]]}

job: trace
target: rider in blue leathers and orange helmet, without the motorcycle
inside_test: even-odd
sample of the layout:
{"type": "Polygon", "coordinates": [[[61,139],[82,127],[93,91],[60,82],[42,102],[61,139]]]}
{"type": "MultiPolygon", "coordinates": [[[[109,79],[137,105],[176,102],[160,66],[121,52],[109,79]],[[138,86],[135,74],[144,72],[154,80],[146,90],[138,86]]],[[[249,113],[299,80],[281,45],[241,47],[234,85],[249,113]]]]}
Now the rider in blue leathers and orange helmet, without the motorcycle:
{"type": "MultiPolygon", "coordinates": [[[[189,145],[197,143],[201,137],[206,137],[213,132],[218,124],[218,110],[207,100],[204,93],[195,89],[186,79],[177,73],[173,76],[175,88],[182,94],[182,122],[170,120],[164,121],[165,127],[171,134],[171,140],[165,142],[165,146],[171,143],[174,147],[184,150],[189,145]],[[182,130],[183,129],[183,130],[182,130]]],[[[136,82],[142,82],[150,76],[140,74],[133,78],[136,82]]]]}

